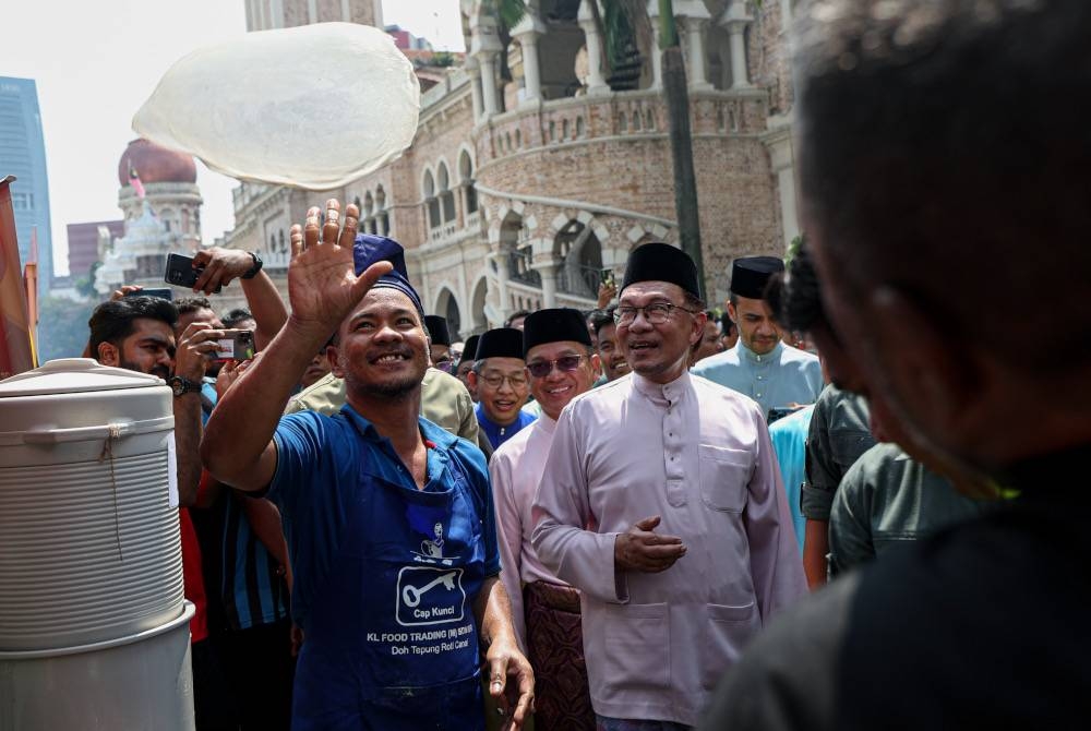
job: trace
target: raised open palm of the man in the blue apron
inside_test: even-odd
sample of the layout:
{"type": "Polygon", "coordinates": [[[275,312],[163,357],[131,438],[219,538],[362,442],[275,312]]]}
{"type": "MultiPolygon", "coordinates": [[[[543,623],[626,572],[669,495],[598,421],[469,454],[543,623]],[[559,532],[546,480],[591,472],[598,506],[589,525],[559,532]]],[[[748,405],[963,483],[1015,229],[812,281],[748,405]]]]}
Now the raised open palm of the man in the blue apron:
{"type": "Polygon", "coordinates": [[[307,225],[291,227],[291,263],[288,266],[288,299],[291,317],[328,337],[352,311],[379,277],[389,272],[389,262],[377,262],[356,275],[352,243],[360,212],[349,204],[340,226],[340,204],[326,201],[326,223],[319,227],[319,208],[307,212],[307,225]],[[339,231],[339,235],[338,235],[339,231]]]}

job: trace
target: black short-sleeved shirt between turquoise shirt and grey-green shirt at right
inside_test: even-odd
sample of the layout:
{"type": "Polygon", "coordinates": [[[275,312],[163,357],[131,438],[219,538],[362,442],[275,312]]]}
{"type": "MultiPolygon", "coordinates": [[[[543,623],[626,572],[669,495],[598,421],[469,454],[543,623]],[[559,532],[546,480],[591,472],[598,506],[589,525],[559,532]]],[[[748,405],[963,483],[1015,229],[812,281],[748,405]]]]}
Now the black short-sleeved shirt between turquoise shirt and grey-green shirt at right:
{"type": "Polygon", "coordinates": [[[807,434],[807,481],[800,496],[808,520],[829,520],[841,478],[875,444],[868,421],[863,397],[832,385],[818,395],[807,434]]]}

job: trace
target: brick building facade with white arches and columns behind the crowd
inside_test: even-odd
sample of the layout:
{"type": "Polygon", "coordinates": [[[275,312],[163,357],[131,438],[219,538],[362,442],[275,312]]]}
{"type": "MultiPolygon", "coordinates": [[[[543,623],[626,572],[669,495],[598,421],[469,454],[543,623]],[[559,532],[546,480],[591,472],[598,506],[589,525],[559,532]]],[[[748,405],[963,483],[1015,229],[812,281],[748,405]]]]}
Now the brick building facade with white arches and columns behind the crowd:
{"type": "MultiPolygon", "coordinates": [[[[678,232],[659,52],[634,33],[611,70],[591,1],[530,0],[505,28],[495,3],[463,0],[466,58],[422,85],[409,149],[335,191],[242,184],[226,245],[257,251],[283,279],[288,229],[336,196],[406,247],[425,309],[460,338],[519,309],[594,307],[601,269],[620,280],[634,247],[678,232]]],[[[799,232],[791,10],[674,0],[710,304],[734,257],[782,255],[799,232]]],[[[652,25],[657,12],[651,0],[652,25]]]]}

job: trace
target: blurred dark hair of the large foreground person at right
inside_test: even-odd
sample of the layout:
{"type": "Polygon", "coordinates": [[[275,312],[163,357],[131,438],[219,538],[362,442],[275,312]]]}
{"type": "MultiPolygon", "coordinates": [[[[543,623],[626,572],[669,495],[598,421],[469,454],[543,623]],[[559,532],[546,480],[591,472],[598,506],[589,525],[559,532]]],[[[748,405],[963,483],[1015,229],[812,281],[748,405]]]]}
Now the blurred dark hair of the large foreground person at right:
{"type": "Polygon", "coordinates": [[[818,0],[798,17],[801,206],[842,297],[895,289],[1023,368],[1091,362],[1072,337],[1091,331],[1072,296],[1091,125],[1028,96],[1087,95],[1091,2],[818,0]],[[1034,304],[983,316],[1002,292],[1034,304]]]}

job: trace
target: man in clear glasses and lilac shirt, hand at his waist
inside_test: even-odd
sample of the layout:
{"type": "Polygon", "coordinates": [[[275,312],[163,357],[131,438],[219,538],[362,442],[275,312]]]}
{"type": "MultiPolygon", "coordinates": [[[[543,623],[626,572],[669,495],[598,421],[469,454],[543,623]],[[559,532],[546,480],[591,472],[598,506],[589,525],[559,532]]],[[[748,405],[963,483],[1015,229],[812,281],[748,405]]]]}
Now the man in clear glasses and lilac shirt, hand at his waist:
{"type": "Polygon", "coordinates": [[[687,370],[705,327],[693,260],[636,249],[614,317],[633,374],[561,414],[532,544],[580,591],[599,728],[686,728],[806,583],[765,415],[687,370]]]}

